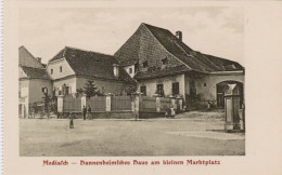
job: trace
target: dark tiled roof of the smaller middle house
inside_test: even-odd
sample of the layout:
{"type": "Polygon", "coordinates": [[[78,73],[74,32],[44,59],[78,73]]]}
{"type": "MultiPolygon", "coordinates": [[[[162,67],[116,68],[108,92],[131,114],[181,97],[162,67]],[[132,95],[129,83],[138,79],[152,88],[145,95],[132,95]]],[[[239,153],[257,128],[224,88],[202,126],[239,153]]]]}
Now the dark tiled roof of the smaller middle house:
{"type": "Polygon", "coordinates": [[[67,60],[77,76],[87,76],[107,80],[121,80],[134,83],[134,80],[131,79],[123,68],[119,69],[119,77],[115,77],[113,65],[119,65],[119,62],[112,55],[65,46],[49,62],[63,57],[67,60]]]}

